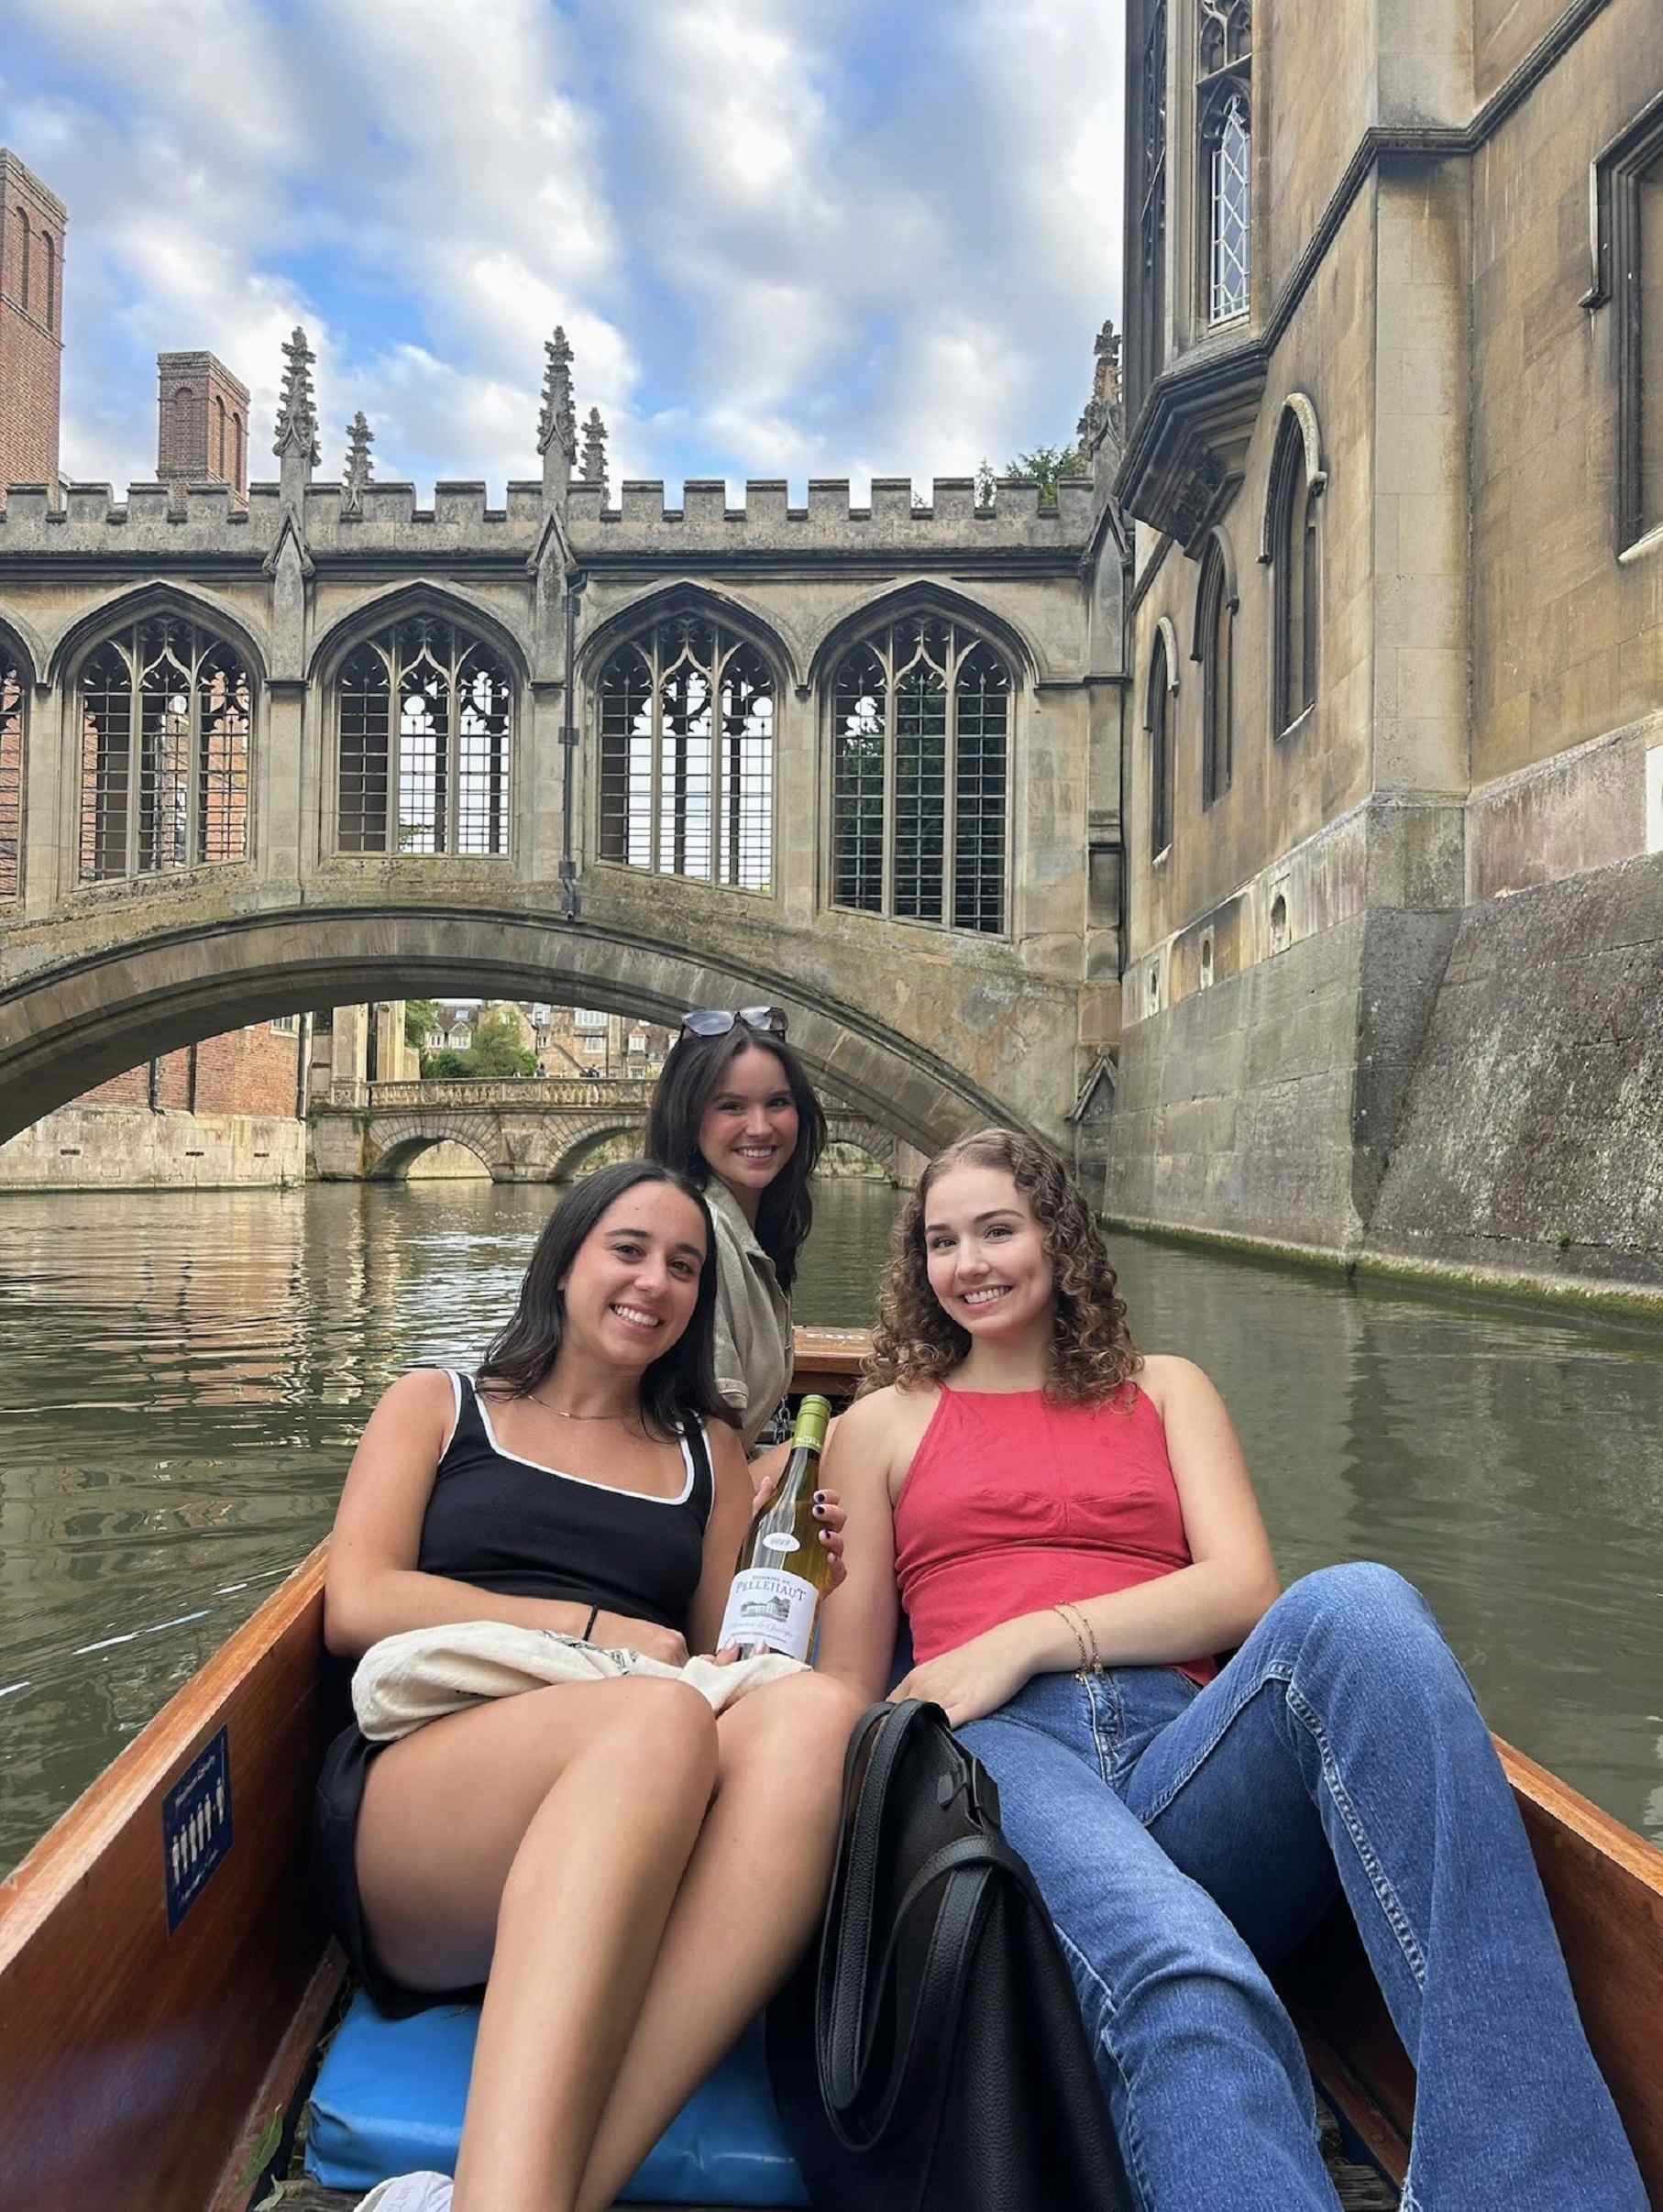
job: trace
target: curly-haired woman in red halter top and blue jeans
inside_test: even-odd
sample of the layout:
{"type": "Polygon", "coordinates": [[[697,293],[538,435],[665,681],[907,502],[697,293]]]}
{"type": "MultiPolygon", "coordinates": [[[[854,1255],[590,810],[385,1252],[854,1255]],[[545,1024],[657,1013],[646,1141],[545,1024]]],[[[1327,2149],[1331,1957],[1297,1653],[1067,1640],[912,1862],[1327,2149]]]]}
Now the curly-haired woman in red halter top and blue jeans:
{"type": "Polygon", "coordinates": [[[1345,1893],[1420,2070],[1404,2208],[1645,2212],[1513,1792],[1424,1599],[1278,1595],[1230,1416],[1139,1354],[1039,1144],[938,1155],[827,1480],[820,1670],[911,1670],[1000,1785],[1092,2035],[1134,2212],[1333,2212],[1269,1969],[1345,1893]],[[1219,1666],[1214,1655],[1232,1648],[1219,1666]]]}

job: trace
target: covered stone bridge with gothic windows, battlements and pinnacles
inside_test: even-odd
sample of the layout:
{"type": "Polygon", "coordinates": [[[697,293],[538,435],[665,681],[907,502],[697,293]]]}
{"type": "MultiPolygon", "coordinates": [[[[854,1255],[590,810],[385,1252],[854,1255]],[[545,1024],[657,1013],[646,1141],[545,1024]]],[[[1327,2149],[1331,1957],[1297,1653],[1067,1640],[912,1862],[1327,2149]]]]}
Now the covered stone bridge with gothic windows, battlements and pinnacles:
{"type": "Polygon", "coordinates": [[[613,495],[546,352],[542,476],[500,507],[378,480],[363,418],[323,480],[301,332],[245,500],[212,447],[124,500],[13,487],[0,1133],[192,1033],[456,993],[624,1040],[778,1000],[909,1144],[1073,1141],[1119,1022],[1112,334],[1095,473],[1046,509],[969,476],[613,495]]]}

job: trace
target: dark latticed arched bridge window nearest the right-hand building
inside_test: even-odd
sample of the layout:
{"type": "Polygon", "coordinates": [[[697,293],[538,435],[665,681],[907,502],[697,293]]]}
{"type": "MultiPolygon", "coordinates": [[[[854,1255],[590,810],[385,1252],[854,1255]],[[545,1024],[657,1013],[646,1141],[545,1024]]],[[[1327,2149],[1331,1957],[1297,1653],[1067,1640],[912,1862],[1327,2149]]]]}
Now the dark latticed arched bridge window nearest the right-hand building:
{"type": "Polygon", "coordinates": [[[958,622],[907,615],[832,679],[832,902],[1002,933],[1011,668],[958,622]]]}

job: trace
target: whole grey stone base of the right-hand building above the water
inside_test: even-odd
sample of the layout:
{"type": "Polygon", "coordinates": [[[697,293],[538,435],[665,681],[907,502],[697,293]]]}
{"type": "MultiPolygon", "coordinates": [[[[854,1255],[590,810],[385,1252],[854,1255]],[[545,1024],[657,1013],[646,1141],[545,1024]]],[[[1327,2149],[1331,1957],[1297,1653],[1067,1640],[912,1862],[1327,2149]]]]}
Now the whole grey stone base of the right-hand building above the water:
{"type": "Polygon", "coordinates": [[[1376,909],[1128,1022],[1104,1214],[1663,1298],[1663,854],[1376,909]]]}

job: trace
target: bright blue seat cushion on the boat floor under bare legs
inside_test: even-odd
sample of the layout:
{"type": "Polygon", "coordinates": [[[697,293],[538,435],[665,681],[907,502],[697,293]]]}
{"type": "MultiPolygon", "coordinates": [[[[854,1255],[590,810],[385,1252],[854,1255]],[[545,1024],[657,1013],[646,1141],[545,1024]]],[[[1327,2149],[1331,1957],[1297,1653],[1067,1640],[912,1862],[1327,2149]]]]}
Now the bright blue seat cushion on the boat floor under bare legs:
{"type": "MultiPolygon", "coordinates": [[[[323,2055],[307,2106],[307,2174],[367,2190],[389,2174],[456,2172],[473,2070],[475,2004],[387,2020],[358,1995],[323,2055]]],[[[805,2205],[754,2022],[670,2121],[619,2203],[805,2205]]]]}

